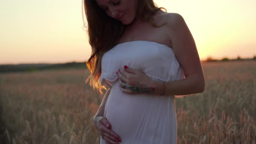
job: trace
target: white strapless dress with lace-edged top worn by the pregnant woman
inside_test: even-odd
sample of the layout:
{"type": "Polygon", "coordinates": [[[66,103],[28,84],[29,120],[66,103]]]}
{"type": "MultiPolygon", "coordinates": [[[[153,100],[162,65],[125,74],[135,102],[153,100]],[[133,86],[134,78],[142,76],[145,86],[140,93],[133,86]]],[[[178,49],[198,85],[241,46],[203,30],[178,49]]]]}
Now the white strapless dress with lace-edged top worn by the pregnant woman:
{"type": "MultiPolygon", "coordinates": [[[[104,117],[112,124],[120,144],[176,144],[177,119],[174,97],[187,95],[127,94],[118,86],[119,68],[142,69],[151,79],[171,82],[185,79],[173,49],[137,40],[114,46],[102,57],[100,82],[111,88],[104,117]]],[[[100,144],[105,141],[100,137],[100,144]]]]}

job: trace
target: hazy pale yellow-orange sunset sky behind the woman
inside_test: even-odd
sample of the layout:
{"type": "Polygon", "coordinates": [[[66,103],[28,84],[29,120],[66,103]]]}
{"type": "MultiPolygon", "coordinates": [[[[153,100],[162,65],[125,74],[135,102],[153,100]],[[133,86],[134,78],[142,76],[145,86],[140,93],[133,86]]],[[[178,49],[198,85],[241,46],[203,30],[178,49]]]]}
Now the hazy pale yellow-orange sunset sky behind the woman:
{"type": "MultiPolygon", "coordinates": [[[[184,17],[201,60],[256,55],[256,0],[154,2],[184,17]]],[[[0,11],[0,64],[85,62],[91,55],[82,0],[1,0],[0,11]]]]}

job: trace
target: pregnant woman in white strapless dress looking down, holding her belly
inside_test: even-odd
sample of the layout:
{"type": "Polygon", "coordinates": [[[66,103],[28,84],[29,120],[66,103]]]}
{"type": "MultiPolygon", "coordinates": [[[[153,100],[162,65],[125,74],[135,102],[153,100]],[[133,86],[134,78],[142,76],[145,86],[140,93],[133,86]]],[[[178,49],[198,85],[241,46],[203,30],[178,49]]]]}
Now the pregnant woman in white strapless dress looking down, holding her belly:
{"type": "Polygon", "coordinates": [[[87,81],[107,90],[94,117],[100,144],[176,144],[174,98],[205,86],[183,17],[153,0],[85,0],[84,7],[92,46],[87,81]]]}

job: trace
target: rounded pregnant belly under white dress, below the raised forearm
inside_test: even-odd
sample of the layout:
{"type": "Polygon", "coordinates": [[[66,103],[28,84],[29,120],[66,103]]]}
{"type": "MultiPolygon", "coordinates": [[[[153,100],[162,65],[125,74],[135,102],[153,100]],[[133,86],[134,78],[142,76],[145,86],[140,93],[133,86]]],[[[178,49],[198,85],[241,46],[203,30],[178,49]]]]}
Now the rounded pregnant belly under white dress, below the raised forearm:
{"type": "Polygon", "coordinates": [[[170,100],[170,97],[163,96],[127,94],[121,92],[116,82],[108,96],[104,117],[112,124],[112,130],[121,139],[136,140],[144,137],[146,141],[153,135],[157,139],[161,136],[163,125],[170,129],[171,121],[176,124],[175,108],[171,108],[170,100]]]}

